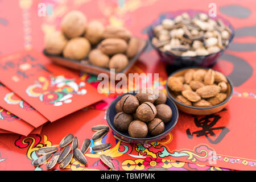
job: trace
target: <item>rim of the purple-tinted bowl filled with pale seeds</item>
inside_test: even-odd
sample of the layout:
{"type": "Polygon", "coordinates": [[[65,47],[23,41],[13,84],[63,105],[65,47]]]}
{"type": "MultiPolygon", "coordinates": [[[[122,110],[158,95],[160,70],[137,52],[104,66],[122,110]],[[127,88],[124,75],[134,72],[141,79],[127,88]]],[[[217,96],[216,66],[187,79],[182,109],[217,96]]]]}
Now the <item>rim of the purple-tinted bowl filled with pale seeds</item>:
{"type": "MultiPolygon", "coordinates": [[[[198,13],[206,13],[208,14],[207,11],[203,11],[203,10],[192,10],[192,9],[188,9],[188,10],[177,10],[177,11],[171,11],[171,12],[167,12],[167,13],[163,13],[161,15],[167,15],[167,14],[171,14],[171,13],[186,13],[186,12],[189,12],[189,11],[195,11],[195,12],[198,12],[198,13]]],[[[205,57],[208,57],[208,56],[212,56],[212,55],[217,55],[218,53],[221,53],[221,52],[224,52],[230,45],[230,43],[232,43],[233,39],[234,39],[234,36],[235,36],[235,30],[234,30],[234,27],[232,26],[232,24],[229,22],[229,20],[227,20],[226,18],[223,18],[222,16],[218,15],[214,18],[220,18],[222,20],[225,20],[225,22],[228,22],[229,24],[229,27],[230,27],[230,30],[232,30],[232,35],[230,36],[229,38],[229,44],[227,46],[225,46],[224,48],[220,49],[220,51],[218,52],[214,52],[214,53],[210,53],[208,55],[201,55],[201,56],[179,56],[179,55],[175,55],[174,53],[171,53],[171,52],[168,52],[168,51],[162,51],[161,49],[159,49],[158,47],[155,47],[155,45],[152,43],[152,38],[154,38],[154,36],[152,38],[150,38],[150,31],[151,29],[154,27],[153,24],[155,24],[156,22],[158,22],[158,20],[160,19],[160,16],[155,19],[151,24],[150,26],[148,27],[148,30],[147,30],[147,36],[148,36],[148,42],[150,42],[150,45],[156,49],[157,51],[161,52],[161,53],[166,53],[167,55],[171,55],[171,56],[175,56],[176,58],[180,58],[180,59],[186,59],[186,58],[205,58],[205,57]]]]}

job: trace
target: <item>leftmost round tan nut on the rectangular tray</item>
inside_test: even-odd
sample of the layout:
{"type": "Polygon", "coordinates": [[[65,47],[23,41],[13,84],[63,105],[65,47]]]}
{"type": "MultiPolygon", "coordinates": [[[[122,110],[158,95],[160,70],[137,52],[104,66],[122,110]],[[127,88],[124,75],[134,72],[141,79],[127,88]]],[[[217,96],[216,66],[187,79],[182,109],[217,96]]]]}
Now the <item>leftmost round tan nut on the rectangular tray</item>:
{"type": "Polygon", "coordinates": [[[46,36],[46,51],[53,55],[60,55],[68,43],[62,32],[56,31],[46,36]]]}

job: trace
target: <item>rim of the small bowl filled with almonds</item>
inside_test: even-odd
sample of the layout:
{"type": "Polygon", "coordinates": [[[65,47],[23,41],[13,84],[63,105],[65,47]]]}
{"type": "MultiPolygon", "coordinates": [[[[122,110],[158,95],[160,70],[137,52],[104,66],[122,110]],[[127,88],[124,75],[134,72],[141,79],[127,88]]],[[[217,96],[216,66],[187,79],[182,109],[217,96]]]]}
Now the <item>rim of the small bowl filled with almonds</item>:
{"type": "MultiPolygon", "coordinates": [[[[178,72],[180,72],[180,71],[183,71],[183,70],[185,70],[185,69],[193,69],[193,68],[207,69],[207,70],[208,70],[208,69],[212,69],[212,68],[207,68],[207,67],[199,67],[199,66],[196,66],[196,67],[181,68],[181,69],[178,69],[177,71],[171,73],[171,75],[168,76],[168,78],[167,78],[167,80],[166,80],[166,92],[167,92],[168,96],[171,98],[171,100],[173,100],[174,102],[177,102],[177,104],[179,104],[179,105],[181,105],[181,106],[188,107],[188,108],[190,108],[190,109],[199,109],[199,110],[213,109],[213,108],[222,106],[222,105],[226,104],[227,102],[229,102],[229,100],[230,100],[230,99],[232,98],[232,96],[233,96],[234,85],[233,85],[232,81],[231,81],[227,76],[225,76],[225,77],[226,77],[226,79],[228,80],[228,83],[229,83],[229,85],[230,85],[230,94],[229,94],[228,98],[226,98],[226,100],[223,101],[223,102],[221,102],[220,104],[217,104],[217,105],[214,105],[214,106],[210,106],[210,107],[195,107],[195,106],[185,105],[185,104],[183,104],[183,103],[177,101],[174,97],[172,97],[172,94],[170,93],[169,88],[168,88],[168,85],[167,85],[168,79],[169,79],[170,77],[174,76],[176,73],[178,73],[178,72]]],[[[213,69],[213,70],[214,70],[214,69],[213,69]]],[[[215,70],[214,70],[214,71],[215,71],[215,70]]]]}

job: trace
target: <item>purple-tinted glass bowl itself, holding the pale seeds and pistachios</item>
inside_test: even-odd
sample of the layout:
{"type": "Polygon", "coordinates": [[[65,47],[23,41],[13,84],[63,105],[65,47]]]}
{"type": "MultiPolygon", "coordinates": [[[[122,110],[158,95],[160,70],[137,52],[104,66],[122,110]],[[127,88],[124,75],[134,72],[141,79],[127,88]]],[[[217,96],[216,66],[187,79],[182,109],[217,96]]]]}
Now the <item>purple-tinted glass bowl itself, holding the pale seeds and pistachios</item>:
{"type": "Polygon", "coordinates": [[[154,21],[154,23],[152,23],[150,25],[150,27],[148,28],[148,38],[150,40],[151,46],[156,50],[156,52],[158,52],[158,55],[160,56],[160,60],[164,61],[164,63],[168,64],[168,65],[174,65],[176,67],[191,67],[191,66],[203,66],[203,67],[210,67],[213,64],[216,63],[216,61],[218,60],[218,57],[220,57],[222,55],[222,53],[225,51],[225,49],[228,48],[229,44],[232,42],[233,38],[234,38],[234,28],[233,26],[228,22],[228,20],[220,17],[220,16],[216,16],[215,18],[212,18],[214,20],[217,19],[221,19],[222,22],[228,26],[230,28],[230,30],[232,30],[232,35],[229,38],[229,44],[228,46],[226,46],[224,49],[221,49],[220,51],[216,52],[216,53],[211,53],[209,55],[206,56],[177,56],[171,52],[164,52],[161,51],[159,48],[155,47],[152,44],[152,38],[154,38],[154,32],[153,32],[153,28],[159,24],[162,23],[163,19],[174,19],[177,15],[181,15],[183,13],[188,13],[188,15],[190,17],[195,16],[198,13],[205,13],[208,14],[207,12],[204,11],[198,11],[198,10],[181,10],[181,11],[175,11],[172,13],[166,13],[166,14],[162,14],[158,19],[156,19],[154,21]]]}

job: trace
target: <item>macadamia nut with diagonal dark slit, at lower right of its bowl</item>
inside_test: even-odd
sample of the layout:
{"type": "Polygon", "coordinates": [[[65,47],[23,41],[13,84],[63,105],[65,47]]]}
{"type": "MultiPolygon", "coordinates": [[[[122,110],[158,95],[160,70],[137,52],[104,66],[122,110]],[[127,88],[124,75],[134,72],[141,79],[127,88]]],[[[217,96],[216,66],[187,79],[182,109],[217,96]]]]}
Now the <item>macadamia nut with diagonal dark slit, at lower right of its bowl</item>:
{"type": "Polygon", "coordinates": [[[160,135],[164,131],[164,122],[159,118],[154,118],[147,125],[148,134],[152,136],[160,135]]]}

